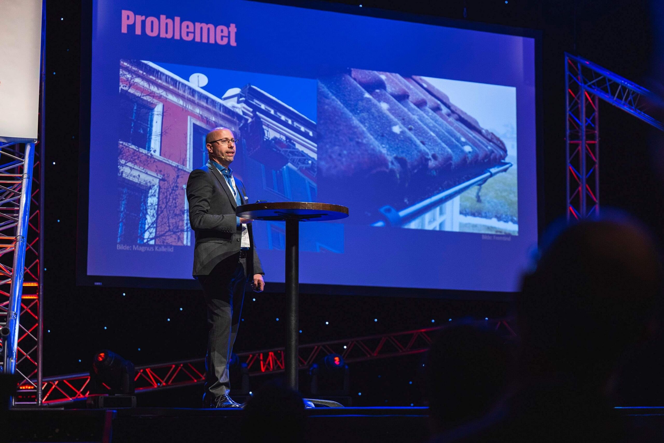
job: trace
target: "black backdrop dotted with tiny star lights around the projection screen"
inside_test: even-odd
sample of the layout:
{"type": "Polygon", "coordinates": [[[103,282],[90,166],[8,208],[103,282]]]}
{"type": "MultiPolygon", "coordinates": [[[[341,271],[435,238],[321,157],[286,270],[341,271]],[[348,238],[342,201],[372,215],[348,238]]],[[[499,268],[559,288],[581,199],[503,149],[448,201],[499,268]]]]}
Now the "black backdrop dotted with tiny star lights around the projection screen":
{"type": "MultiPolygon", "coordinates": [[[[563,52],[590,58],[635,82],[644,83],[648,70],[651,23],[649,5],[643,0],[343,3],[543,31],[540,224],[563,215],[565,208],[563,52]]],[[[46,5],[44,375],[87,371],[92,355],[102,348],[137,365],[202,357],[205,308],[198,291],[75,285],[81,5],[80,0],[47,1],[46,5]]],[[[650,133],[639,120],[608,104],[600,105],[602,203],[631,211],[658,229],[662,185],[650,168],[650,133]]],[[[301,343],[405,331],[438,325],[449,318],[509,313],[509,304],[504,302],[421,298],[416,292],[408,295],[303,295],[301,343]]],[[[284,321],[276,318],[284,315],[285,308],[283,294],[248,294],[236,350],[283,343],[284,321]]],[[[418,361],[419,357],[402,357],[351,366],[355,403],[422,404],[420,382],[415,377],[418,361]],[[365,393],[360,397],[357,394],[362,389],[365,393]]],[[[189,397],[169,391],[151,401],[184,405],[193,401],[197,389],[187,391],[189,397]]]]}

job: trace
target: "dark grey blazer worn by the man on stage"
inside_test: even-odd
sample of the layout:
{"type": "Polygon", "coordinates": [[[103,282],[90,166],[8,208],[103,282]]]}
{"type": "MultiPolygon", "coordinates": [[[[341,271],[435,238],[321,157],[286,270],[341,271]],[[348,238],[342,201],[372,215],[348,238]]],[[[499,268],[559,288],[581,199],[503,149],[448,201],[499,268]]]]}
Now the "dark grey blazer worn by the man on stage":
{"type": "MultiPolygon", "coordinates": [[[[247,202],[244,185],[235,179],[242,201],[247,202]]],[[[189,223],[196,234],[193,275],[208,275],[224,258],[240,252],[241,226],[237,226],[237,203],[226,179],[210,161],[189,174],[187,181],[189,223]]],[[[263,268],[254,248],[252,225],[247,224],[251,248],[247,256],[247,277],[262,274],[263,268]]]]}

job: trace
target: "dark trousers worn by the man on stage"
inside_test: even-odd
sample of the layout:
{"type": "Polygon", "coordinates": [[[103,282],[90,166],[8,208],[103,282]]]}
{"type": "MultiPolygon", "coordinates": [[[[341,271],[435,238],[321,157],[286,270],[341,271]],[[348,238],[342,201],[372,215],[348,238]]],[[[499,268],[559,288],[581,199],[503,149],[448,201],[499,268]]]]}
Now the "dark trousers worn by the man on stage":
{"type": "Polygon", "coordinates": [[[228,394],[228,361],[238,335],[246,286],[246,258],[234,254],[222,260],[207,276],[198,276],[207,304],[208,349],[205,357],[203,405],[228,394]]]}

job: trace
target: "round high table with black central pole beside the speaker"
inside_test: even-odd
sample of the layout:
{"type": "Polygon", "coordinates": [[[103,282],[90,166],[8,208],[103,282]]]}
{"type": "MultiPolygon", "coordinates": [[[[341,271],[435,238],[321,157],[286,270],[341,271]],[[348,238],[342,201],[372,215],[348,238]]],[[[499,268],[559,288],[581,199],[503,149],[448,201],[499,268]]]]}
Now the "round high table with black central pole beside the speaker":
{"type": "Polygon", "coordinates": [[[301,201],[283,201],[272,203],[251,203],[238,206],[236,215],[242,219],[286,222],[286,355],[284,372],[286,383],[291,389],[299,391],[297,383],[297,347],[299,345],[298,299],[299,299],[299,222],[329,221],[348,217],[348,208],[329,203],[309,203],[301,201]]]}

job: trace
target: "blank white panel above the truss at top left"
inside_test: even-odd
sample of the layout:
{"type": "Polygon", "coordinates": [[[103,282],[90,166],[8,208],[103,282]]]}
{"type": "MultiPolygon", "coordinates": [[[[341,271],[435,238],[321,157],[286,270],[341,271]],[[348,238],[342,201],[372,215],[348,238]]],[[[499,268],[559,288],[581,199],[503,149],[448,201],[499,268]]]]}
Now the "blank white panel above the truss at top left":
{"type": "Polygon", "coordinates": [[[41,0],[0,0],[0,141],[37,139],[41,0]]]}

